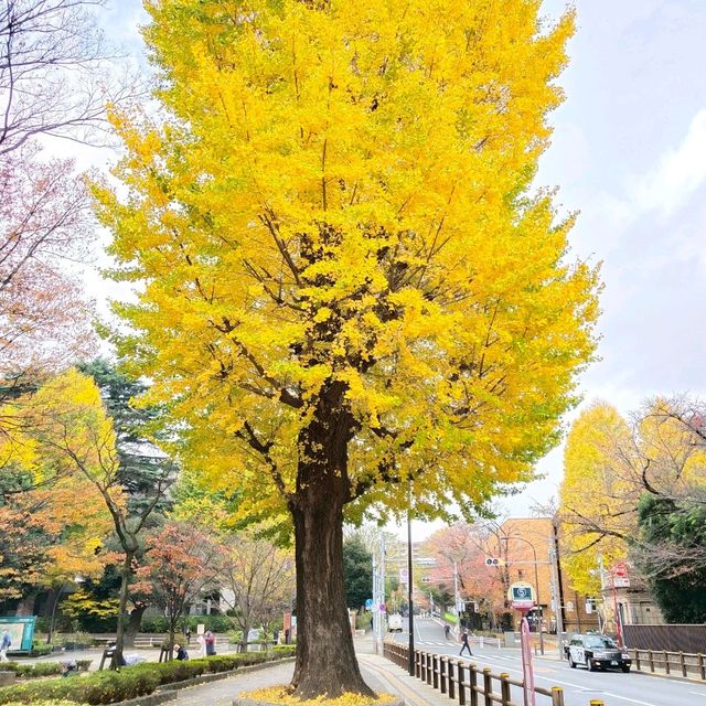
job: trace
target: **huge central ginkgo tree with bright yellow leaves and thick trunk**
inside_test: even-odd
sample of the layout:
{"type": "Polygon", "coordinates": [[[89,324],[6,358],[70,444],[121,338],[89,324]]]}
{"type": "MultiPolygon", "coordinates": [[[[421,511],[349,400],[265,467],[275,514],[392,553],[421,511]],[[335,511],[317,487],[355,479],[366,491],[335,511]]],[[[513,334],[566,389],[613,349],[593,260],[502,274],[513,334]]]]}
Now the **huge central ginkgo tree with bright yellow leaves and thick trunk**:
{"type": "Polygon", "coordinates": [[[164,119],[96,184],[120,343],[182,457],[288,512],[301,697],[370,694],[344,513],[527,480],[590,360],[597,274],[531,186],[573,14],[535,0],[151,0],[164,119]]]}

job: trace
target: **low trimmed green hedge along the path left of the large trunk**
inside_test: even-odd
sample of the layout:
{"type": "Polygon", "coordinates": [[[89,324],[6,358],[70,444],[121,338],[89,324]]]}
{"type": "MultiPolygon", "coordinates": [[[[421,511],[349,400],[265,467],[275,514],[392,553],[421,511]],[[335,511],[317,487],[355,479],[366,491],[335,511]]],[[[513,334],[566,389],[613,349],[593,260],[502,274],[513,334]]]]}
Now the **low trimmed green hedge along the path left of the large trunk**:
{"type": "MultiPolygon", "coordinates": [[[[293,648],[282,645],[276,657],[293,654],[293,648]],[[284,649],[282,649],[284,648],[284,649]]],[[[186,662],[147,662],[119,672],[94,672],[87,676],[43,680],[0,688],[0,704],[41,704],[42,699],[66,699],[81,704],[113,704],[151,694],[158,686],[183,682],[202,674],[227,672],[238,666],[258,664],[268,659],[265,652],[214,655],[186,662]]]]}

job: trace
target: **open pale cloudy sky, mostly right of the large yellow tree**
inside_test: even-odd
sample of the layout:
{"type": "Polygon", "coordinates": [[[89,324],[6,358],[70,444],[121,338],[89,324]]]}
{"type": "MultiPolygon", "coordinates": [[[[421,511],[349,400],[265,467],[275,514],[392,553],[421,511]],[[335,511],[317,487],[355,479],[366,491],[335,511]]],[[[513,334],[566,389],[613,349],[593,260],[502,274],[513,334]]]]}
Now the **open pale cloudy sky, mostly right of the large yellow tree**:
{"type": "MultiPolygon", "coordinates": [[[[545,0],[557,17],[566,3],[545,0]]],[[[580,211],[576,257],[602,261],[600,362],[581,378],[582,406],[621,411],[657,394],[706,391],[706,0],[576,0],[578,31],[560,78],[565,104],[537,183],[580,211]]],[[[108,35],[140,54],[137,0],[114,2],[108,35]]],[[[575,410],[566,419],[570,422],[575,410]]],[[[556,495],[561,449],[545,480],[504,501],[526,515],[556,495]]],[[[421,527],[415,534],[422,534],[421,527]]]]}

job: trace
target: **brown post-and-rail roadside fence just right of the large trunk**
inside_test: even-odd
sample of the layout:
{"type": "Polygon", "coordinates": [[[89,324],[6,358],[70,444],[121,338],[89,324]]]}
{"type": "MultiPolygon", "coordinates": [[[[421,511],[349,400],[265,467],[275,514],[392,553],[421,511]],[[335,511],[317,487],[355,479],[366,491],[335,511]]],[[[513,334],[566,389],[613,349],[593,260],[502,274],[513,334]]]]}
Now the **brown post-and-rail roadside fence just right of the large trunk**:
{"type": "MultiPolygon", "coordinates": [[[[407,670],[409,648],[395,642],[385,642],[384,655],[407,670]]],[[[415,676],[429,686],[447,694],[459,706],[522,706],[512,700],[512,686],[523,688],[521,681],[510,678],[506,673],[493,674],[490,667],[479,668],[443,654],[415,650],[415,676]]],[[[535,694],[547,697],[550,706],[564,706],[564,689],[559,686],[543,688],[535,686],[535,694]]],[[[605,706],[603,702],[591,700],[590,706],[605,706]]]]}

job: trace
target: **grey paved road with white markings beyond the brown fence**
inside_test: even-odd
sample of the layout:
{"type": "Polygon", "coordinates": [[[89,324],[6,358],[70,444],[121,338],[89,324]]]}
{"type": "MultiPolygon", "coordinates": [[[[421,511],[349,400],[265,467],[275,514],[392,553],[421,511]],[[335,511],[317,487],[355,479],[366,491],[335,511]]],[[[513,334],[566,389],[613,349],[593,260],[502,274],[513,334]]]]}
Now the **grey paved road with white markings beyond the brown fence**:
{"type": "MultiPolygon", "coordinates": [[[[408,633],[396,633],[395,640],[407,644],[408,633]]],[[[415,646],[437,654],[457,655],[458,642],[443,638],[443,628],[434,620],[415,620],[415,646]]],[[[498,650],[471,645],[473,657],[463,657],[479,667],[491,667],[494,674],[507,672],[511,677],[522,678],[522,661],[518,650],[498,650]]],[[[659,676],[631,672],[588,672],[581,667],[571,670],[556,656],[535,657],[535,684],[549,688],[564,688],[566,706],[588,706],[591,699],[601,699],[606,706],[698,706],[706,704],[706,684],[681,682],[659,676]]],[[[520,694],[513,700],[522,703],[520,694]]],[[[548,703],[537,697],[537,706],[548,703]]]]}

